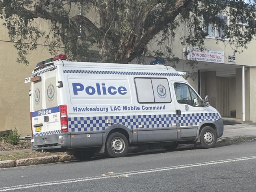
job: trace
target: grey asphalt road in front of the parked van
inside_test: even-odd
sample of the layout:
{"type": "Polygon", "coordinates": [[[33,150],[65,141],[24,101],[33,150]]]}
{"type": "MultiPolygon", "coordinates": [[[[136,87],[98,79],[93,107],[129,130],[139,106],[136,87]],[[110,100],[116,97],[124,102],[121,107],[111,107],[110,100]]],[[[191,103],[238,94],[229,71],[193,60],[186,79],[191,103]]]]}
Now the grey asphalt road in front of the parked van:
{"type": "Polygon", "coordinates": [[[255,192],[256,142],[7,168],[0,191],[255,192]]]}

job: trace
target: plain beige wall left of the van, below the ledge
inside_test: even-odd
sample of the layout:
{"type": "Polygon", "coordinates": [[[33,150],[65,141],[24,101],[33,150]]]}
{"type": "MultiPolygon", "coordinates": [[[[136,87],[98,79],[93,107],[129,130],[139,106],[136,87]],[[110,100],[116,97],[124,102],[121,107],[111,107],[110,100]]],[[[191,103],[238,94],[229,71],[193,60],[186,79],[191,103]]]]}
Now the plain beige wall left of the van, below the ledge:
{"type": "Polygon", "coordinates": [[[17,51],[14,43],[0,41],[0,131],[17,126],[22,136],[31,135],[30,127],[30,83],[24,79],[30,77],[39,61],[50,58],[50,54],[39,46],[28,55],[30,65],[16,62],[17,51]]]}

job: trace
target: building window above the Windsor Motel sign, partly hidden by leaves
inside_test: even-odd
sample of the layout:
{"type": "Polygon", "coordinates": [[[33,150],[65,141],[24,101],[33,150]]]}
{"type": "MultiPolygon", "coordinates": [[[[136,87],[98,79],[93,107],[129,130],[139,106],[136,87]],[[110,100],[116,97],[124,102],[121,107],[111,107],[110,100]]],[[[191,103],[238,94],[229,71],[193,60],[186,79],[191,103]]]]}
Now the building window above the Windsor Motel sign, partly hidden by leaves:
{"type": "MultiPolygon", "coordinates": [[[[219,18],[223,19],[225,25],[228,25],[228,17],[224,15],[218,15],[219,18]]],[[[224,28],[219,28],[216,24],[209,23],[205,26],[204,31],[208,33],[208,37],[225,37],[224,28]]]]}

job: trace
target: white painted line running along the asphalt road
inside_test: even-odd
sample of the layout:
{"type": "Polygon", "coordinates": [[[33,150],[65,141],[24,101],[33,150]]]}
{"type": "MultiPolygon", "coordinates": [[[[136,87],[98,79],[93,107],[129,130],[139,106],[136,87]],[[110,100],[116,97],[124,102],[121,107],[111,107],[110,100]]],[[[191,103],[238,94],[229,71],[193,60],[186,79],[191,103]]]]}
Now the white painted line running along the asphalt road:
{"type": "Polygon", "coordinates": [[[147,174],[147,173],[153,173],[153,172],[184,169],[184,168],[206,166],[206,165],[213,165],[213,164],[222,164],[222,163],[228,163],[228,162],[247,161],[247,160],[252,160],[252,159],[256,159],[256,156],[240,157],[240,158],[236,158],[236,159],[225,159],[225,160],[219,160],[219,161],[208,161],[208,162],[202,162],[202,163],[185,164],[185,165],[170,166],[170,167],[161,167],[161,168],[149,169],[149,170],[123,172],[123,173],[111,174],[111,175],[107,175],[107,176],[84,177],[84,178],[76,178],[76,179],[66,179],[66,180],[61,180],[61,181],[50,181],[50,182],[43,182],[43,183],[31,183],[31,184],[25,184],[25,185],[9,186],[9,187],[0,188],[0,192],[25,189],[25,188],[41,187],[41,186],[60,185],[60,184],[65,184],[65,183],[76,183],[76,182],[81,182],[81,181],[108,179],[108,178],[113,178],[113,177],[121,177],[122,175],[147,174]]]}

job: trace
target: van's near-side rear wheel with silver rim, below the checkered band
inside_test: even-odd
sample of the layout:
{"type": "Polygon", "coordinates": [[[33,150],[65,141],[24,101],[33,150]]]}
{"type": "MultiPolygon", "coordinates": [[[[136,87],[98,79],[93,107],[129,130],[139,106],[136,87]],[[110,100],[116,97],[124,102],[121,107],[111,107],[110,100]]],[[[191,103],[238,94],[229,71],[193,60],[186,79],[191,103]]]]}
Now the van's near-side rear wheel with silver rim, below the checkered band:
{"type": "Polygon", "coordinates": [[[108,157],[123,157],[129,148],[128,140],[122,133],[112,133],[107,138],[106,155],[108,157]]]}

